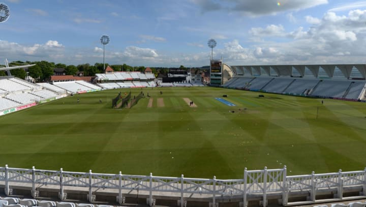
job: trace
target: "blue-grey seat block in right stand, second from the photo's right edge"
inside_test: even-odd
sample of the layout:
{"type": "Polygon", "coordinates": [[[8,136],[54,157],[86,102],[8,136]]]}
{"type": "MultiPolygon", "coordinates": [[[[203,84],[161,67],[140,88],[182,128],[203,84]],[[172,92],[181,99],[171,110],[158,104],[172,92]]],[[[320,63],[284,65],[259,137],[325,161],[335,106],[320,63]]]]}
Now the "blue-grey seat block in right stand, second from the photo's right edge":
{"type": "Polygon", "coordinates": [[[349,81],[323,80],[311,95],[342,98],[350,84],[349,81]]]}

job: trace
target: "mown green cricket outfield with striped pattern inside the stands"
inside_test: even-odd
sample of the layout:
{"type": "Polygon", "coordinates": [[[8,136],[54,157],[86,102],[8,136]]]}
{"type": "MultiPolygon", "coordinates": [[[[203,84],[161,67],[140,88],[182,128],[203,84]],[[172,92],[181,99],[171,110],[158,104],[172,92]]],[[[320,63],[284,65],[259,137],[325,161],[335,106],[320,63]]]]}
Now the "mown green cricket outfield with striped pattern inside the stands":
{"type": "Polygon", "coordinates": [[[366,166],[365,103],[326,99],[321,105],[321,99],[174,87],[143,89],[154,98],[151,108],[144,98],[131,109],[111,109],[119,91],[130,90],[76,95],[0,116],[0,166],[218,179],[242,178],[245,167],[287,165],[293,175],[366,166]],[[237,106],[214,99],[223,94],[237,106]]]}

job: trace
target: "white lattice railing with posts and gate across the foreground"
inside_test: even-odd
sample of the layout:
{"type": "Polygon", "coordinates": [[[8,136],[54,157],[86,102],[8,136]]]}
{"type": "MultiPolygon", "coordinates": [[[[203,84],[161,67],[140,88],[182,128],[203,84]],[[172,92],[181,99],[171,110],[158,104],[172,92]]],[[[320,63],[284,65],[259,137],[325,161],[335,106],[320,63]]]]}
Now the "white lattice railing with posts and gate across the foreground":
{"type": "Polygon", "coordinates": [[[103,174],[89,172],[69,172],[52,170],[10,168],[8,165],[0,167],[0,182],[5,182],[5,194],[10,195],[10,186],[17,184],[32,184],[33,197],[38,196],[37,188],[51,186],[59,189],[60,199],[66,199],[65,186],[88,189],[88,200],[94,201],[99,189],[118,190],[117,201],[122,203],[123,194],[133,191],[148,193],[149,205],[155,203],[153,194],[169,192],[173,197],[180,197],[178,202],[185,203],[189,197],[212,199],[212,206],[216,204],[218,196],[242,197],[245,206],[248,204],[248,195],[261,195],[262,205],[267,205],[267,194],[277,193],[282,196],[283,205],[288,204],[288,196],[292,192],[310,192],[310,202],[315,202],[317,190],[336,189],[337,197],[343,198],[344,186],[361,186],[363,195],[366,195],[365,170],[350,172],[333,172],[322,174],[306,174],[287,176],[286,166],[282,169],[244,170],[244,178],[236,180],[197,179],[180,177],[166,177],[150,175],[103,174]]]}

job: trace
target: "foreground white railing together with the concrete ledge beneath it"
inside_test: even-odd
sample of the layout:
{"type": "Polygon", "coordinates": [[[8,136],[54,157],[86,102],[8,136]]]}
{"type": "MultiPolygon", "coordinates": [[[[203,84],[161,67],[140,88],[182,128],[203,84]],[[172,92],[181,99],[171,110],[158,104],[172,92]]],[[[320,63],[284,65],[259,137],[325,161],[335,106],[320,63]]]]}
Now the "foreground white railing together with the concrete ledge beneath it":
{"type": "Polygon", "coordinates": [[[94,201],[126,202],[146,199],[148,205],[175,201],[177,206],[303,205],[366,198],[366,169],[304,175],[287,175],[282,169],[244,170],[243,179],[164,177],[102,174],[0,167],[5,195],[31,195],[94,201]],[[197,205],[197,203],[199,203],[197,205]]]}

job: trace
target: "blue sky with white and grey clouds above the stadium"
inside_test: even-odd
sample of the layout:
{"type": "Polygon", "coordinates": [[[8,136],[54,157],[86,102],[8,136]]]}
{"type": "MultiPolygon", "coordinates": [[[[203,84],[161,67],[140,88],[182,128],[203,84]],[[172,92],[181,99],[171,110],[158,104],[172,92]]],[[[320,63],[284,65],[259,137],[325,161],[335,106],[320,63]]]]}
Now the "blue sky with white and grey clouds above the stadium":
{"type": "MultiPolygon", "coordinates": [[[[0,1],[1,2],[1,1],[0,1]]],[[[0,61],[150,67],[366,62],[366,1],[4,0],[0,61]]],[[[1,64],[0,62],[0,64],[1,64]]]]}

